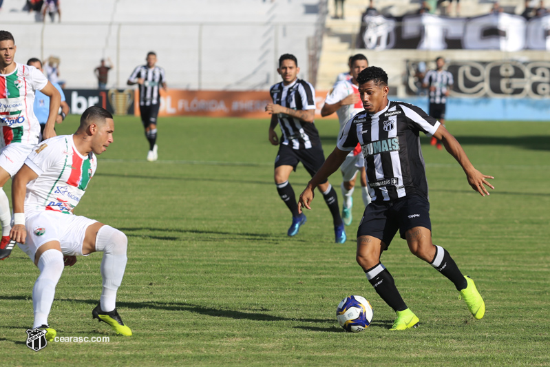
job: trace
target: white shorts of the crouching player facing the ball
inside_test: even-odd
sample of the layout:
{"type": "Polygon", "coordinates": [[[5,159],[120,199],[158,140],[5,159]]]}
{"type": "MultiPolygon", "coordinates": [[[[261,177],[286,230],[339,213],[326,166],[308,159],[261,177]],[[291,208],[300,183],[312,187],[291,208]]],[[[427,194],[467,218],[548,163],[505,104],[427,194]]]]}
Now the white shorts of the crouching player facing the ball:
{"type": "Polygon", "coordinates": [[[86,229],[97,222],[83,216],[70,216],[57,211],[38,211],[25,218],[27,239],[18,244],[34,262],[36,250],[46,242],[57,241],[61,244],[63,255],[83,255],[82,244],[86,229]]]}

